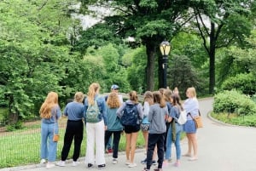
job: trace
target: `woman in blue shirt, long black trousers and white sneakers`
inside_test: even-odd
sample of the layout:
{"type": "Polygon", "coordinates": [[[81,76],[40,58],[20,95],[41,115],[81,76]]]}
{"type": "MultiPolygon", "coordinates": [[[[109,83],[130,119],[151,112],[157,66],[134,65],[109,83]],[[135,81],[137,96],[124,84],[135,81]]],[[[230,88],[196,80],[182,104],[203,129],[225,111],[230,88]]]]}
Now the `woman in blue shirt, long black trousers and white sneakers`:
{"type": "Polygon", "coordinates": [[[84,94],[82,92],[77,92],[74,95],[73,102],[69,102],[64,109],[64,116],[67,116],[67,127],[64,135],[64,145],[61,151],[61,161],[57,162],[58,166],[65,166],[65,161],[67,160],[68,152],[74,140],[74,150],[73,150],[73,166],[77,166],[77,162],[81,143],[84,134],[84,94]]]}

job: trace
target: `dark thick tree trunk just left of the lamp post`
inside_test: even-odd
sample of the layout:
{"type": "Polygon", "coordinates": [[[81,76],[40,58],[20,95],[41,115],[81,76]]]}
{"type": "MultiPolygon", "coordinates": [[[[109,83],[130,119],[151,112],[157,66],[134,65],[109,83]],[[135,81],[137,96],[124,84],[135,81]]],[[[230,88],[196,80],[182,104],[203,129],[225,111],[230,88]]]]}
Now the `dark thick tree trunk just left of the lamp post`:
{"type": "Polygon", "coordinates": [[[147,53],[147,68],[146,68],[146,83],[147,90],[154,90],[154,45],[151,43],[146,44],[146,53],[147,53]]]}

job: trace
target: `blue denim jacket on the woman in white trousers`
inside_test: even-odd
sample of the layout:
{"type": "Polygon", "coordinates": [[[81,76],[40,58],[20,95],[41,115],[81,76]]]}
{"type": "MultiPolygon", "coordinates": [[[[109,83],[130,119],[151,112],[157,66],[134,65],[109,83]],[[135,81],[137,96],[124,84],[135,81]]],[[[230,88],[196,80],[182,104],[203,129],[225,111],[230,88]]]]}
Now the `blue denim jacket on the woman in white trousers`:
{"type": "MultiPolygon", "coordinates": [[[[99,110],[101,112],[101,114],[98,116],[99,122],[104,121],[104,124],[107,125],[108,124],[108,117],[107,117],[107,105],[106,105],[106,101],[104,97],[98,97],[98,94],[96,94],[96,96],[94,97],[94,99],[97,102],[97,105],[99,107],[99,110]]],[[[86,111],[88,108],[88,99],[86,98],[84,100],[84,123],[86,123],[86,111]]]]}

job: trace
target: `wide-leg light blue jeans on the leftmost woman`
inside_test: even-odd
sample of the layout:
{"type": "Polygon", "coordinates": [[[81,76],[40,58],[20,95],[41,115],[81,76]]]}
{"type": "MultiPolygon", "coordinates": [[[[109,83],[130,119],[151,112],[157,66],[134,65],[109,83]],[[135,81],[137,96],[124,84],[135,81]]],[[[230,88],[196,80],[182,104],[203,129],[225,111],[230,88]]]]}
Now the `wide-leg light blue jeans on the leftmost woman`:
{"type": "Polygon", "coordinates": [[[58,123],[41,123],[41,158],[54,162],[57,155],[57,142],[53,141],[55,134],[59,134],[58,123]]]}

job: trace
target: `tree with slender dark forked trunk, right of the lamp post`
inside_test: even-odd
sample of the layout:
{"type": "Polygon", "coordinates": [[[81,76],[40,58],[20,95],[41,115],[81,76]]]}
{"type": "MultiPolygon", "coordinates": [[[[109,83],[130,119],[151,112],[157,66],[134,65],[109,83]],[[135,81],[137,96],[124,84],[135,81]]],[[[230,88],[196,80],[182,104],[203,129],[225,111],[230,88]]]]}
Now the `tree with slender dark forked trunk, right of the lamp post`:
{"type": "Polygon", "coordinates": [[[247,0],[211,0],[198,1],[193,5],[196,26],[210,61],[209,94],[214,93],[216,49],[231,44],[245,46],[245,37],[253,28],[249,18],[253,3],[247,0]]]}

